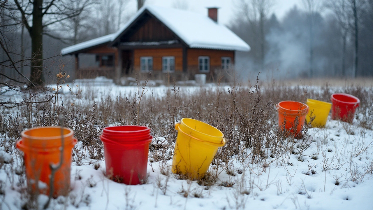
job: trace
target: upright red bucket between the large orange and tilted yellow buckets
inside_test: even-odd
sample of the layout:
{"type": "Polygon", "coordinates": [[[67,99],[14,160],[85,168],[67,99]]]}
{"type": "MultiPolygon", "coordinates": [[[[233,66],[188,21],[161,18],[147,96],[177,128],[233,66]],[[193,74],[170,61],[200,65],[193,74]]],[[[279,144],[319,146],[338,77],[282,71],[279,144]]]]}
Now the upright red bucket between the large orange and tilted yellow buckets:
{"type": "Polygon", "coordinates": [[[149,143],[153,139],[145,126],[111,126],[100,136],[104,143],[106,175],[110,179],[137,185],[146,179],[149,143]]]}

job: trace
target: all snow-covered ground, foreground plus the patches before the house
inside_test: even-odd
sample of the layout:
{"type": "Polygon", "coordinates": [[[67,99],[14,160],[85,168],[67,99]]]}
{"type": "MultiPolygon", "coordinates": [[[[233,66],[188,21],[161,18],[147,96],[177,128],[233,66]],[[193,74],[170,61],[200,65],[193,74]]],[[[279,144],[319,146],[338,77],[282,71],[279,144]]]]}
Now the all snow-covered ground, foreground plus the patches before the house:
{"type": "MultiPolygon", "coordinates": [[[[94,95],[137,91],[137,87],[113,85],[90,88],[85,89],[86,94],[90,91],[94,95]]],[[[188,90],[192,93],[198,88],[188,90]]],[[[153,87],[152,90],[157,97],[166,94],[168,87],[153,87]]],[[[64,87],[65,94],[69,91],[64,87]]],[[[170,169],[172,160],[167,161],[166,166],[148,161],[147,183],[135,186],[107,179],[104,160],[84,159],[79,166],[73,162],[72,191],[68,197],[52,200],[49,209],[372,210],[373,131],[331,120],[329,116],[325,128],[311,128],[309,132],[313,140],[302,158],[290,153],[276,159],[268,157],[269,166],[263,168],[246,161],[241,163],[234,156],[235,176],[220,168],[218,181],[212,186],[178,179],[178,175],[171,172],[162,175],[161,169],[170,169]]],[[[0,210],[22,209],[24,204],[21,188],[16,185],[19,169],[8,164],[11,158],[17,161],[17,152],[6,153],[5,148],[0,147],[0,159],[4,159],[4,164],[0,163],[0,210]]],[[[211,173],[216,173],[213,168],[210,166],[211,173]]],[[[40,209],[46,201],[46,195],[38,197],[40,209]]]]}

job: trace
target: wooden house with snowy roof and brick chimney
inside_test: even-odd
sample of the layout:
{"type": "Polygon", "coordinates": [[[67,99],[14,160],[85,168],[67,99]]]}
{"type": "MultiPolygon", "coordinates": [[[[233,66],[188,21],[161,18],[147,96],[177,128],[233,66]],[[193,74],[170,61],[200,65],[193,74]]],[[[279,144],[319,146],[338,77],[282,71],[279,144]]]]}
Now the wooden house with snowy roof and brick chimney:
{"type": "Polygon", "coordinates": [[[144,6],[119,31],[61,50],[75,55],[76,78],[165,74],[178,80],[194,74],[214,77],[231,68],[235,51],[249,51],[245,41],[217,22],[217,8],[208,16],[185,10],[144,6]],[[79,68],[79,53],[96,55],[97,67],[79,68]]]}

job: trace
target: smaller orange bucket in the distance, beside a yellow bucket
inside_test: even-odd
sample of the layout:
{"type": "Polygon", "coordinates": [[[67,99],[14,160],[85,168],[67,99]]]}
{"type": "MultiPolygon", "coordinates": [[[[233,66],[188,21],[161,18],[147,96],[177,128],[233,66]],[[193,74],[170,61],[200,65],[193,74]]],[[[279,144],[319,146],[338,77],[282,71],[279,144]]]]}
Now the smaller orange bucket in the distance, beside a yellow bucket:
{"type": "Polygon", "coordinates": [[[279,112],[279,127],[294,133],[294,136],[299,136],[304,126],[305,116],[308,113],[307,104],[297,101],[281,101],[277,105],[279,112]],[[293,129],[295,120],[298,119],[297,130],[293,129]],[[284,126],[285,121],[285,126],[284,126]]]}

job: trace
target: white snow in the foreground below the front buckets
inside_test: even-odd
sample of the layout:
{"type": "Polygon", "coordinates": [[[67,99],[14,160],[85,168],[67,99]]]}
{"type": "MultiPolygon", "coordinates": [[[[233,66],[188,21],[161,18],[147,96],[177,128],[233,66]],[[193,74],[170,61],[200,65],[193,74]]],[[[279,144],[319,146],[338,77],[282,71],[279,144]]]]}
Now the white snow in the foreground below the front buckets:
{"type": "MultiPolygon", "coordinates": [[[[371,141],[373,132],[370,130],[365,132],[364,135],[369,136],[371,141]]],[[[179,180],[177,175],[171,174],[165,195],[157,187],[157,182],[160,181],[161,184],[164,184],[166,180],[166,176],[160,173],[161,166],[159,163],[148,162],[147,172],[150,175],[146,184],[130,186],[107,179],[103,173],[105,171],[104,161],[96,161],[95,164],[99,163],[100,168],[95,170],[93,164],[89,164],[92,160],[87,159],[81,166],[77,166],[75,163],[72,165],[72,191],[69,198],[60,197],[57,200],[53,200],[52,206],[54,206],[54,209],[59,209],[66,202],[67,209],[71,210],[76,208],[79,210],[236,209],[237,206],[241,205],[242,200],[242,204],[245,204],[245,209],[371,210],[373,206],[373,200],[371,199],[373,195],[373,176],[367,174],[363,181],[358,183],[352,182],[343,176],[350,174],[351,164],[355,164],[358,170],[364,170],[368,159],[372,160],[372,143],[366,142],[364,144],[364,146],[368,146],[368,149],[360,155],[362,157],[361,160],[356,157],[350,161],[350,156],[353,155],[353,148],[363,143],[362,139],[359,140],[361,138],[360,134],[349,135],[345,132],[343,123],[334,120],[329,120],[325,129],[311,129],[311,134],[314,135],[316,142],[313,142],[311,147],[307,149],[304,162],[298,161],[297,155],[292,154],[289,161],[293,163],[292,166],[288,164],[281,166],[274,161],[261,175],[259,175],[261,169],[251,163],[245,163],[250,169],[247,169],[242,174],[237,173],[234,177],[226,175],[224,172],[220,173],[220,182],[236,182],[233,187],[224,187],[216,184],[206,188],[198,185],[196,181],[179,180]],[[327,142],[320,142],[325,135],[328,136],[327,142]],[[332,152],[326,152],[326,157],[334,157],[330,170],[322,170],[322,157],[319,157],[319,160],[307,157],[307,155],[313,154],[318,149],[317,144],[321,144],[319,149],[333,149],[332,152]],[[342,148],[345,147],[348,147],[348,149],[342,151],[342,148]],[[341,161],[340,163],[336,158],[339,152],[342,152],[345,158],[344,161],[341,158],[339,160],[341,161]],[[314,164],[317,164],[314,167],[316,174],[305,175],[304,173],[308,171],[308,165],[314,164]],[[251,170],[252,173],[250,173],[251,170]],[[243,176],[244,179],[242,179],[243,176]],[[334,184],[334,177],[342,177],[338,186],[334,184]],[[239,191],[237,181],[242,180],[245,189],[250,191],[250,185],[253,185],[253,189],[249,195],[239,194],[237,201],[235,198],[237,191],[239,191]],[[185,198],[184,195],[179,193],[183,188],[185,190],[189,188],[190,194],[196,192],[202,197],[195,198],[190,196],[185,198]]],[[[158,140],[162,141],[162,139],[161,137],[158,140]]],[[[168,166],[171,164],[172,160],[167,161],[168,166]]],[[[239,161],[236,161],[234,168],[242,169],[245,164],[242,165],[239,161]]],[[[0,172],[0,179],[6,181],[4,172],[0,172]]],[[[19,208],[15,205],[19,203],[17,202],[19,200],[19,192],[6,186],[5,198],[4,201],[12,209],[19,208]]],[[[40,200],[44,201],[46,198],[43,197],[40,200]]]]}

